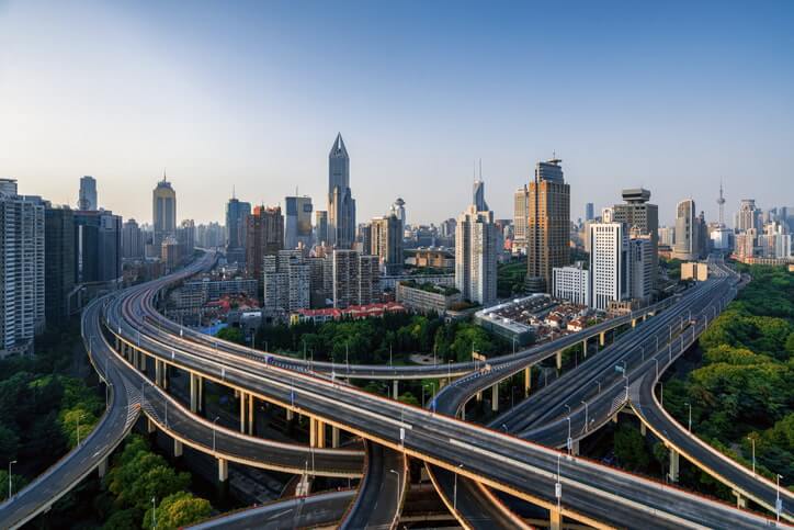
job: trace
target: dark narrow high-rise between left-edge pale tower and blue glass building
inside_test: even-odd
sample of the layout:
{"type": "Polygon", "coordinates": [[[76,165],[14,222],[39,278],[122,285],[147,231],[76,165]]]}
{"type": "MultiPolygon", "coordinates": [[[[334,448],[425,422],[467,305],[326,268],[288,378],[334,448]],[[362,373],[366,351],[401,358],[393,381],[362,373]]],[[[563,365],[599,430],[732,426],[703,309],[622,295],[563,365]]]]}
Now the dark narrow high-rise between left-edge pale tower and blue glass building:
{"type": "Polygon", "coordinates": [[[47,327],[64,325],[75,290],[75,212],[44,203],[44,300],[47,327]]]}

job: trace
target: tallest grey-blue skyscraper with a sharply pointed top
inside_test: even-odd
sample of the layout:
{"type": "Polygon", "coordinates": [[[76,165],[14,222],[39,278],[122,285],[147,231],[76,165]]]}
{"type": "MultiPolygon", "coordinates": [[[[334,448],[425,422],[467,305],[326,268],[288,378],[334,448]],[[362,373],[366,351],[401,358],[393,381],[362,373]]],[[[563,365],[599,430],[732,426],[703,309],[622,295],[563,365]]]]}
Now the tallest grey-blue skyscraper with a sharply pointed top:
{"type": "Polygon", "coordinates": [[[355,201],[350,191],[350,157],[337,134],[328,154],[328,239],[337,248],[352,248],[355,240],[355,201]]]}

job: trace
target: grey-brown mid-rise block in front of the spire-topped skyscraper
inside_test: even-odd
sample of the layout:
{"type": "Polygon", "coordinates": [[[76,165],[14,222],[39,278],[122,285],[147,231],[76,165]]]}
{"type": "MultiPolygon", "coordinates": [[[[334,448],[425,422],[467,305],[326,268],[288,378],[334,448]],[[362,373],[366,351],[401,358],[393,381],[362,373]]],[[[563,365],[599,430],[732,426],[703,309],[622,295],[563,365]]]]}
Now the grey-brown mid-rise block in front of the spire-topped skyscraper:
{"type": "Polygon", "coordinates": [[[333,307],[366,305],[378,301],[378,257],[334,249],[331,261],[333,307]]]}

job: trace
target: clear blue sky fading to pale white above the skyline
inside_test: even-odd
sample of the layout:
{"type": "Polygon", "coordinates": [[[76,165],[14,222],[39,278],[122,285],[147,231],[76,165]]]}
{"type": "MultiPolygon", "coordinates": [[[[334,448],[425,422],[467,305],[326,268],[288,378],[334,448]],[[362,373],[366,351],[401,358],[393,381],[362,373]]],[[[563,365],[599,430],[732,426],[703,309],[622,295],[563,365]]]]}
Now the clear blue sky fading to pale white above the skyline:
{"type": "Polygon", "coordinates": [[[232,190],[326,208],[341,132],[358,221],[470,203],[498,218],[563,159],[571,218],[643,185],[660,224],[693,198],[794,205],[794,2],[0,0],[0,177],[23,194],[222,221],[232,190]]]}

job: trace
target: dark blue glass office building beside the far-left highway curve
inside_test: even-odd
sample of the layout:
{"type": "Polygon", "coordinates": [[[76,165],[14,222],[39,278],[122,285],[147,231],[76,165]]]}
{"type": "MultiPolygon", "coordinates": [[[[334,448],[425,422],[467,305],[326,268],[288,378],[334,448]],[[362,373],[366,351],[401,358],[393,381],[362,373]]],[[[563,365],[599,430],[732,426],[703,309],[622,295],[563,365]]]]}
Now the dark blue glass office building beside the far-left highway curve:
{"type": "Polygon", "coordinates": [[[116,282],[122,277],[122,217],[109,210],[75,212],[77,283],[116,282]]]}

